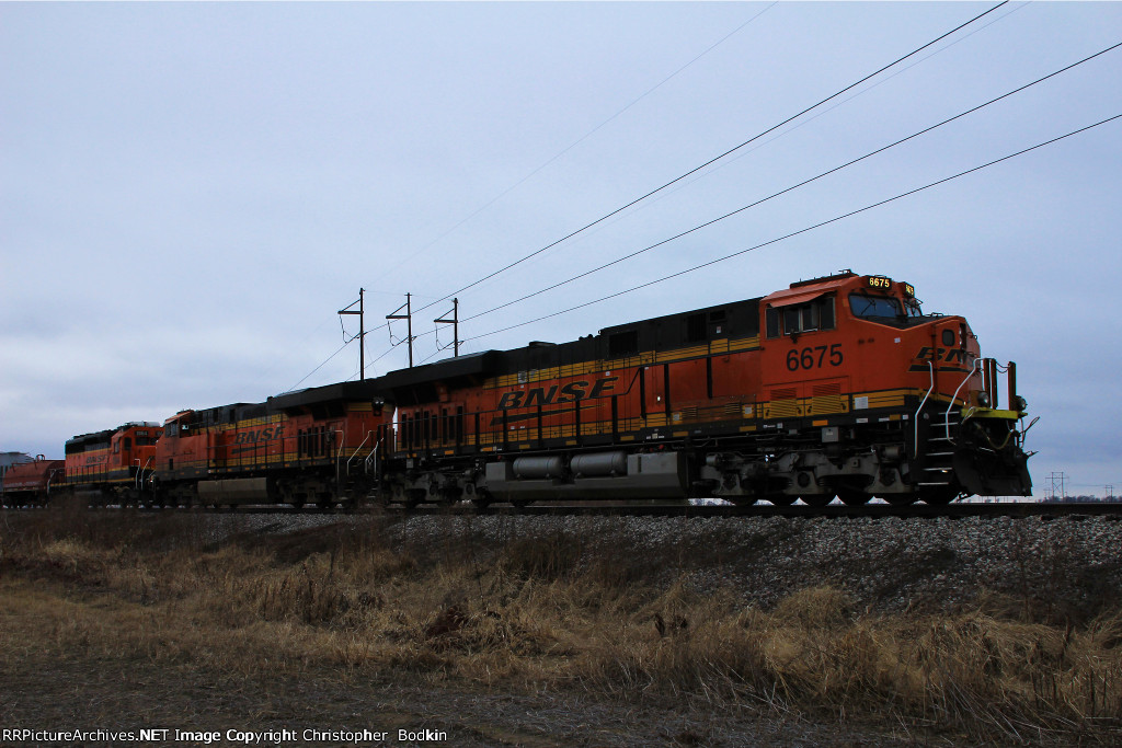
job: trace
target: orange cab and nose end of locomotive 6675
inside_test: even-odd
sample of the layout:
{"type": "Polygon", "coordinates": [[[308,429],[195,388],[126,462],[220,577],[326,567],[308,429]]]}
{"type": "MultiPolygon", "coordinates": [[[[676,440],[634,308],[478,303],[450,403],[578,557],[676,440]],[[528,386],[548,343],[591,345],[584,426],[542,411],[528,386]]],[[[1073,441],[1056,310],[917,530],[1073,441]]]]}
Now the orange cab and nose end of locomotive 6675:
{"type": "Polygon", "coordinates": [[[853,504],[1031,492],[1015,364],[982,358],[964,317],[925,314],[910,284],[849,271],[762,307],[764,428],[821,427],[812,486],[853,504]],[[1000,370],[1012,409],[997,408],[1000,370]]]}

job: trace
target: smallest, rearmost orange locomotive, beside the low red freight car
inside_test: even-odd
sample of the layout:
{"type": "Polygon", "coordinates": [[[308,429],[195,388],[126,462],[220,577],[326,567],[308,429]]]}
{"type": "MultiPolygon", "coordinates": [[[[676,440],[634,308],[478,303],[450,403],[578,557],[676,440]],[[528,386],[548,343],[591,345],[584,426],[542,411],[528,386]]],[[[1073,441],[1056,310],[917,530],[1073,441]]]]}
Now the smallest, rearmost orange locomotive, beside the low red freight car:
{"type": "Polygon", "coordinates": [[[159,424],[127,423],[66,442],[66,487],[91,505],[148,502],[159,424]]]}

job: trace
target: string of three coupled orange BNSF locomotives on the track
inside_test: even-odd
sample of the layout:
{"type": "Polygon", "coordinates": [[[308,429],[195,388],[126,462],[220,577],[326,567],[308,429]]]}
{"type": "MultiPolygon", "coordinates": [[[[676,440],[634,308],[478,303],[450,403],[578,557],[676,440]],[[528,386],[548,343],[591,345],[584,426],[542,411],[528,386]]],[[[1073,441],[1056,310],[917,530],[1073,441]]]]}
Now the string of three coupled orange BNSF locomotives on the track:
{"type": "Polygon", "coordinates": [[[65,480],[100,501],[166,506],[1029,496],[1015,384],[963,317],[845,271],[75,437],[65,480]]]}

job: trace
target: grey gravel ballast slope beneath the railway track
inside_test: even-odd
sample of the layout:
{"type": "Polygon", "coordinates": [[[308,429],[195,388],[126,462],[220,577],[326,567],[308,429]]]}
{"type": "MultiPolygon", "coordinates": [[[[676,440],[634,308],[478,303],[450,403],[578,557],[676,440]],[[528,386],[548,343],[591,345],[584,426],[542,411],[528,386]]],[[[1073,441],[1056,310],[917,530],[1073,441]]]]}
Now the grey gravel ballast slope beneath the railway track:
{"type": "Polygon", "coordinates": [[[954,610],[980,594],[1034,599],[1060,616],[1092,616],[1122,599],[1122,521],[1107,517],[682,518],[521,515],[208,515],[206,537],[373,528],[422,558],[563,539],[581,565],[608,563],[654,582],[684,576],[732,588],[769,608],[818,584],[881,612],[954,610]]]}

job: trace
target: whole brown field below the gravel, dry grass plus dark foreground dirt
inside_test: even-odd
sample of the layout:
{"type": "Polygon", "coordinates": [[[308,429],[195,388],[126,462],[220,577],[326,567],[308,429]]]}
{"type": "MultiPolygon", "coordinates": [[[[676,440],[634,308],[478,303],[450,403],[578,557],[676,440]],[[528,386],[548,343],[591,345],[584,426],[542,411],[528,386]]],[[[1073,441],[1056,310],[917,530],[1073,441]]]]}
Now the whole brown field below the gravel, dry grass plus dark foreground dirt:
{"type": "Polygon", "coordinates": [[[208,521],[0,518],[0,728],[368,727],[407,745],[396,730],[429,727],[458,746],[1122,741],[1116,600],[1064,618],[996,592],[888,612],[821,584],[761,609],[668,579],[705,548],[660,558],[620,539],[594,553],[561,532],[410,545],[381,517],[214,541],[208,521]]]}

